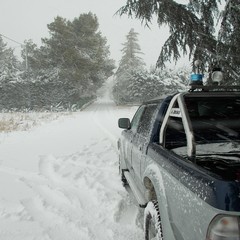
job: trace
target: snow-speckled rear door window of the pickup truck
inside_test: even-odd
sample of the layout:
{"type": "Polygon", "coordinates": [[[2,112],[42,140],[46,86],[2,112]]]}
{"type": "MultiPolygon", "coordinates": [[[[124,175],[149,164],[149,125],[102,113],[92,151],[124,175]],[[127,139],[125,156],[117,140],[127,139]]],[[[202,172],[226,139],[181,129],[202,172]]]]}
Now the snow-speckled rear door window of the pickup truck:
{"type": "Polygon", "coordinates": [[[137,133],[141,134],[144,137],[147,137],[149,135],[152,126],[152,120],[155,119],[153,115],[156,114],[156,109],[157,104],[146,105],[138,124],[137,133]]]}

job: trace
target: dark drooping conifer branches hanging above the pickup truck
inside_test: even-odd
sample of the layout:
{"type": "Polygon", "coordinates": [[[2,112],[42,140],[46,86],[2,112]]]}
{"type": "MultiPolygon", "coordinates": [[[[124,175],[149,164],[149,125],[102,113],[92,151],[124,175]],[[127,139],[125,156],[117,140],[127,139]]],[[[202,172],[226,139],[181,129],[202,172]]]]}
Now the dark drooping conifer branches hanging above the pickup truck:
{"type": "Polygon", "coordinates": [[[188,54],[192,62],[200,59],[210,71],[223,66],[225,84],[240,82],[239,0],[190,0],[189,4],[174,0],[127,0],[119,14],[134,15],[149,26],[156,15],[160,27],[169,26],[170,36],[159,55],[159,67],[188,54]],[[224,8],[221,13],[220,4],[224,8]]]}

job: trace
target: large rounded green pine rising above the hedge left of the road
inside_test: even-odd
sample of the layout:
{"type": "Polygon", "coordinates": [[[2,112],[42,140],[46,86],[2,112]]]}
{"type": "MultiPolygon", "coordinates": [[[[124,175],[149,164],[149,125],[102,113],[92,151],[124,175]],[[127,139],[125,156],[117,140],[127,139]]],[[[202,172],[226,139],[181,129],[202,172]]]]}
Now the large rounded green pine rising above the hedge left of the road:
{"type": "Polygon", "coordinates": [[[57,17],[48,28],[50,38],[43,39],[42,50],[49,65],[59,68],[60,79],[71,81],[80,95],[94,94],[114,69],[96,15],[81,14],[72,22],[57,17]]]}

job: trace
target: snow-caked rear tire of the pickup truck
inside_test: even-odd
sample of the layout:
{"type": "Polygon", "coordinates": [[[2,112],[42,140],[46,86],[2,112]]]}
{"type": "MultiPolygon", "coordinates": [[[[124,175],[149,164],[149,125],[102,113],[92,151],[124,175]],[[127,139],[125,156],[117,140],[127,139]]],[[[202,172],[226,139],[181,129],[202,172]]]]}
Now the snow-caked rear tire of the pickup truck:
{"type": "Polygon", "coordinates": [[[157,201],[150,201],[144,211],[145,240],[163,240],[162,223],[157,201]]]}

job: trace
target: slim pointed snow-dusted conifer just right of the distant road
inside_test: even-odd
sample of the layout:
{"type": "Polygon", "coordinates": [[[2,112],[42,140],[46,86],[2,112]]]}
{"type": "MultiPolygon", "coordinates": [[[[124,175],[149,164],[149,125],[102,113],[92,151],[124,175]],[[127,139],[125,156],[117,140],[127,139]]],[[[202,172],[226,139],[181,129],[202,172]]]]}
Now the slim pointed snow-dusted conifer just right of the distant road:
{"type": "MultiPolygon", "coordinates": [[[[132,101],[133,75],[145,69],[145,63],[140,55],[141,47],[138,43],[138,33],[132,28],[123,43],[122,58],[116,71],[116,84],[113,89],[113,96],[117,103],[132,101]]],[[[137,79],[138,80],[138,79],[137,79]]]]}

